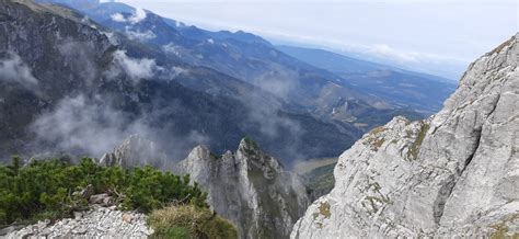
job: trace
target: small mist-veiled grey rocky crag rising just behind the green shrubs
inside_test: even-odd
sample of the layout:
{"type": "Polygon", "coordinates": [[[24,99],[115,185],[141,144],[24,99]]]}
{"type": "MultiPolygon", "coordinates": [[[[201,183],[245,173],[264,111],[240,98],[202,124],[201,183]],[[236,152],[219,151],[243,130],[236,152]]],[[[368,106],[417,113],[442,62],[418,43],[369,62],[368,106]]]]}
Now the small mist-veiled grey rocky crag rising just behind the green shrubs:
{"type": "Polygon", "coordinates": [[[102,166],[154,166],[161,168],[165,163],[163,153],[157,144],[136,135],[130,136],[112,152],[104,153],[99,163],[102,166]]]}

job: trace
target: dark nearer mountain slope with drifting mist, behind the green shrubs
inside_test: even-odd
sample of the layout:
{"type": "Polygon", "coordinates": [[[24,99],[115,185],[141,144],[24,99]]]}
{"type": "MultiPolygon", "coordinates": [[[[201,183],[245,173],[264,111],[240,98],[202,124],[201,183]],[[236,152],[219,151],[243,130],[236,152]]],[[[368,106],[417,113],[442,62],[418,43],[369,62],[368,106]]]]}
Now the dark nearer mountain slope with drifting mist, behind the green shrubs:
{"type": "Polygon", "coordinates": [[[0,20],[2,159],[101,157],[139,135],[175,160],[200,144],[224,152],[250,135],[289,164],[338,153],[361,134],[349,123],[285,111],[257,87],[182,62],[71,9],[2,0],[0,20]]]}

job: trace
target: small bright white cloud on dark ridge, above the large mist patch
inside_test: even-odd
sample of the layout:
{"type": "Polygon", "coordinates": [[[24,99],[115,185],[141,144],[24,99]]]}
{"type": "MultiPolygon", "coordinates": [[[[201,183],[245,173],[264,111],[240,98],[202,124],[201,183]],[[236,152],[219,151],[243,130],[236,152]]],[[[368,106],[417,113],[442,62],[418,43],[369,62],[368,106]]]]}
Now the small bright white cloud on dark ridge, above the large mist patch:
{"type": "Polygon", "coordinates": [[[134,82],[138,82],[141,79],[152,78],[157,71],[164,70],[162,67],[157,66],[154,59],[128,57],[126,50],[116,50],[113,56],[113,65],[106,72],[108,79],[125,75],[134,82]]]}

